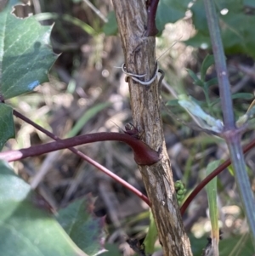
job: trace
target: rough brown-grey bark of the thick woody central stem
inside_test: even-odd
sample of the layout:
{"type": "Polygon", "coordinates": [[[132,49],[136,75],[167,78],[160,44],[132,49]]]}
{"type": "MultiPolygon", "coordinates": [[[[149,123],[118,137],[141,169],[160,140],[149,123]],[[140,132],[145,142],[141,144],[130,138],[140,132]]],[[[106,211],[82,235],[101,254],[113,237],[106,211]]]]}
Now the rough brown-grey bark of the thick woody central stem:
{"type": "MultiPolygon", "coordinates": [[[[156,68],[155,37],[144,37],[147,12],[145,1],[112,0],[116,12],[127,71],[146,74],[150,80],[156,68]]],[[[139,166],[156,220],[159,239],[166,256],[190,256],[190,241],[178,210],[173,174],[167,156],[160,114],[157,82],[150,87],[128,78],[133,124],[144,131],[142,139],[154,150],[162,151],[162,159],[151,166],[139,166]]]]}

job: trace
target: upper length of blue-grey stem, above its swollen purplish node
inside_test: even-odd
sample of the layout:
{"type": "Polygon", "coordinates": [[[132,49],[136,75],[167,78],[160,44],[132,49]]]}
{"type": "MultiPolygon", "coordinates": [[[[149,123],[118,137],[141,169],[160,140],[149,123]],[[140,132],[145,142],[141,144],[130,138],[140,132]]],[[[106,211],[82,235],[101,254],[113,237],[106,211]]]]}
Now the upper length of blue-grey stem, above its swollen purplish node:
{"type": "Polygon", "coordinates": [[[225,129],[235,128],[235,117],[233,110],[233,103],[231,98],[231,91],[229,85],[227,65],[225,62],[224,47],[221,40],[220,30],[218,26],[218,16],[213,0],[204,0],[205,9],[207,13],[207,24],[210,31],[212,42],[212,51],[215,60],[215,68],[218,77],[218,87],[221,99],[221,107],[224,117],[225,129]]]}

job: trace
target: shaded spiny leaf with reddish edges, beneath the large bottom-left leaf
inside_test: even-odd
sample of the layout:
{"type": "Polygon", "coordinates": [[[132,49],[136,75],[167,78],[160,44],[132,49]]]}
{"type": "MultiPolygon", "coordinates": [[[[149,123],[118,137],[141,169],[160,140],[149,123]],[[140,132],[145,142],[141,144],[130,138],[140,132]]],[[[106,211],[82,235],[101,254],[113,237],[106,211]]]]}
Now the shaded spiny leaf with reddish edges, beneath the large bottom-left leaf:
{"type": "Polygon", "coordinates": [[[105,219],[97,218],[90,212],[93,208],[93,202],[90,201],[87,196],[85,199],[72,202],[67,208],[59,210],[57,219],[72,241],[89,256],[93,256],[105,252],[103,247],[105,219]]]}

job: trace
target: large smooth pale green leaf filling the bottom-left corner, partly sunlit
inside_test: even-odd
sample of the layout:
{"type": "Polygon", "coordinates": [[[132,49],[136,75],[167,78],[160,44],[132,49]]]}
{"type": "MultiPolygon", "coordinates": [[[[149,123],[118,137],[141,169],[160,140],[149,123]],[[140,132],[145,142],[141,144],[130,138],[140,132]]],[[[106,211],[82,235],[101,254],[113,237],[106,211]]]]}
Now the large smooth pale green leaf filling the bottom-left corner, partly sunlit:
{"type": "Polygon", "coordinates": [[[4,256],[87,256],[42,208],[42,198],[0,161],[0,252],[4,256]]]}

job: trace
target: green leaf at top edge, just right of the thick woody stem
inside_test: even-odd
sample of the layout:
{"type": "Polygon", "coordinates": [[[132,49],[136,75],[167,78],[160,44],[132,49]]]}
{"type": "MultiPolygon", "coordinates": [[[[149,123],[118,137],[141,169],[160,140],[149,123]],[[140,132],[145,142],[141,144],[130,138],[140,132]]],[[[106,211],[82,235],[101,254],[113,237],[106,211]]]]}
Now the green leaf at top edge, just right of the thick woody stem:
{"type": "Polygon", "coordinates": [[[184,18],[189,0],[161,0],[156,12],[156,27],[161,32],[167,23],[174,23],[184,18]]]}

